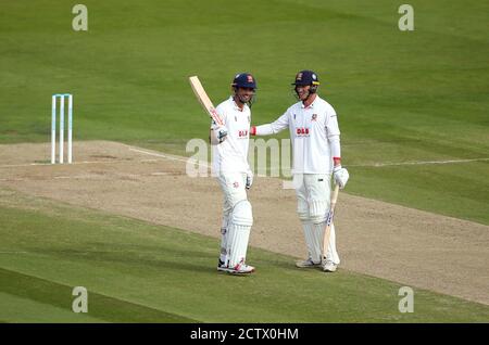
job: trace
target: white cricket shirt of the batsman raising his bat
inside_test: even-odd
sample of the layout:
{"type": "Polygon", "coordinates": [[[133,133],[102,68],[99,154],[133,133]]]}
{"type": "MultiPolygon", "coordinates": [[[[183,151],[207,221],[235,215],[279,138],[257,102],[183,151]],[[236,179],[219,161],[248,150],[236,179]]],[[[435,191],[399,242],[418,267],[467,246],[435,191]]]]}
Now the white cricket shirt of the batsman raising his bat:
{"type": "Polygon", "coordinates": [[[213,145],[213,173],[247,173],[250,141],[251,111],[244,104],[242,111],[230,97],[215,108],[227,128],[227,138],[213,145]]]}

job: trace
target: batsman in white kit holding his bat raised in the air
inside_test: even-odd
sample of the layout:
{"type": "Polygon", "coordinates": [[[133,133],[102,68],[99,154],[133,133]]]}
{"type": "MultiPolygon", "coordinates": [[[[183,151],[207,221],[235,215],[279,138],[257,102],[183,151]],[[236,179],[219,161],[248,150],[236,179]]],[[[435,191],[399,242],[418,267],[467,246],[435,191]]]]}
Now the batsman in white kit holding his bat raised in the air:
{"type": "Polygon", "coordinates": [[[247,197],[253,174],[248,164],[250,141],[250,106],[256,82],[249,73],[238,74],[231,84],[233,95],[217,105],[224,126],[211,126],[213,175],[224,193],[221,226],[221,256],[217,270],[235,274],[251,273],[254,267],[246,264],[248,241],[253,216],[247,197]]]}

